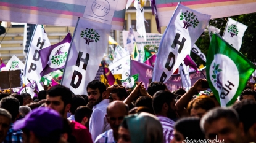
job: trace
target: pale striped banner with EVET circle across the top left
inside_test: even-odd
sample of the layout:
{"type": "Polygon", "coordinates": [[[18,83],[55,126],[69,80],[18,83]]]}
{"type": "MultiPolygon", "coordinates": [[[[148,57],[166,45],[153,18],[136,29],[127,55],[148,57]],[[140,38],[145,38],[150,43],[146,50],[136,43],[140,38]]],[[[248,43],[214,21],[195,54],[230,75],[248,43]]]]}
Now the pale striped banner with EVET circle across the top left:
{"type": "Polygon", "coordinates": [[[126,2],[123,0],[7,0],[0,2],[0,21],[76,26],[78,17],[104,22],[123,30],[126,2]]]}

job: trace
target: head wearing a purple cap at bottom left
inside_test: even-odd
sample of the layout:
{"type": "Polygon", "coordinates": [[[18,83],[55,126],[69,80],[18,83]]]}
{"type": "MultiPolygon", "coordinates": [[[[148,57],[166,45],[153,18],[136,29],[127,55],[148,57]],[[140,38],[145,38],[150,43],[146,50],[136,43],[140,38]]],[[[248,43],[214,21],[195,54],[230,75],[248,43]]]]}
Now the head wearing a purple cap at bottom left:
{"type": "Polygon", "coordinates": [[[62,122],[58,112],[41,107],[30,112],[20,122],[15,122],[13,129],[22,129],[23,142],[26,143],[57,143],[62,133],[62,122]]]}

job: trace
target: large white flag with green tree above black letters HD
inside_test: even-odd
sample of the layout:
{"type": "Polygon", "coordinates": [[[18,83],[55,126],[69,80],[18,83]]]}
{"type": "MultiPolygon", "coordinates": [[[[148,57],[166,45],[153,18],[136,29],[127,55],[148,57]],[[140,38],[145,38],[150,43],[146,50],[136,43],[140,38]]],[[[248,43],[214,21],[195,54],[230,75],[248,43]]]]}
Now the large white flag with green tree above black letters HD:
{"type": "Polygon", "coordinates": [[[75,94],[86,94],[94,80],[109,41],[111,25],[78,19],[62,75],[61,85],[75,94]]]}

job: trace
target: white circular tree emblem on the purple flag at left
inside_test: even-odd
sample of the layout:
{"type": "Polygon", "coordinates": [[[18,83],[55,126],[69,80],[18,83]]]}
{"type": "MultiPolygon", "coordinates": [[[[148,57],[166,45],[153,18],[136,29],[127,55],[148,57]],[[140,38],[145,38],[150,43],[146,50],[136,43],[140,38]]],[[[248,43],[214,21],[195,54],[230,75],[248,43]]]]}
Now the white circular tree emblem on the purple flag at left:
{"type": "MultiPolygon", "coordinates": [[[[65,46],[65,45],[64,45],[65,46]]],[[[55,54],[51,58],[52,64],[55,64],[55,66],[59,66],[62,63],[65,63],[67,59],[67,52],[62,52],[60,47],[59,49],[56,50],[55,54]]]]}

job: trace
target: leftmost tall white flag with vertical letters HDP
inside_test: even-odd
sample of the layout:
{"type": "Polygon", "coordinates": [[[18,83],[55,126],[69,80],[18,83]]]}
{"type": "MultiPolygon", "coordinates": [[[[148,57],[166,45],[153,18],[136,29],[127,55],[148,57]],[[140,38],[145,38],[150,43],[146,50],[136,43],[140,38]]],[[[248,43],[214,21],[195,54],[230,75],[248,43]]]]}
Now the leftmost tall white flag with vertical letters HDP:
{"type": "Polygon", "coordinates": [[[24,76],[27,79],[39,81],[41,79],[40,72],[43,70],[40,60],[39,50],[50,46],[50,41],[44,30],[43,25],[36,25],[30,47],[27,54],[27,61],[24,70],[24,76]]]}

